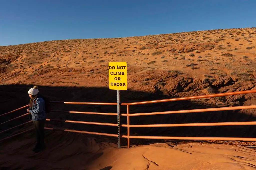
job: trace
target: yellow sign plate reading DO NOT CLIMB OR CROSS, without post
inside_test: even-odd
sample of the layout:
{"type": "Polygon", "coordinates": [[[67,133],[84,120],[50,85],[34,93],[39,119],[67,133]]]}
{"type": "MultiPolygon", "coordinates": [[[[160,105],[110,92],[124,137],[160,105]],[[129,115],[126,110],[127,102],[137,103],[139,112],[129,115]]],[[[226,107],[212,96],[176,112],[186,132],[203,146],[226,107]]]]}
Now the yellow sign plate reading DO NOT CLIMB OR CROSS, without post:
{"type": "Polygon", "coordinates": [[[127,63],[109,63],[109,88],[112,90],[127,90],[127,63]]]}

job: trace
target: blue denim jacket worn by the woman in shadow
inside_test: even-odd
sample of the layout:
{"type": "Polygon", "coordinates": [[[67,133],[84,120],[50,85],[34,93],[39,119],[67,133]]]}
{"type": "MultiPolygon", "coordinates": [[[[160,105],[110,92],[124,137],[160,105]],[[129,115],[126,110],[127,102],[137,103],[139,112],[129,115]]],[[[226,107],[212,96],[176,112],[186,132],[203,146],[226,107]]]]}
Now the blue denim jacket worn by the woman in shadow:
{"type": "Polygon", "coordinates": [[[29,113],[31,113],[33,121],[46,119],[44,99],[36,97],[33,101],[33,107],[29,110],[29,113]]]}

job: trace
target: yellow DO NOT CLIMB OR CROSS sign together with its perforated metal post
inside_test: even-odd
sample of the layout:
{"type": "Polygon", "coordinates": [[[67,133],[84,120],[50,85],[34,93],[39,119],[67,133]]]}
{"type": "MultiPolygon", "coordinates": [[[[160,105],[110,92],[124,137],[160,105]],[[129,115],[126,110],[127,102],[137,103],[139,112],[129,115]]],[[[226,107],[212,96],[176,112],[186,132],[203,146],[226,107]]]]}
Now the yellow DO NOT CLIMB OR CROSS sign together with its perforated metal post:
{"type": "Polygon", "coordinates": [[[109,88],[117,90],[117,122],[118,122],[118,148],[121,147],[121,128],[120,128],[120,90],[127,90],[127,63],[109,63],[109,88]]]}

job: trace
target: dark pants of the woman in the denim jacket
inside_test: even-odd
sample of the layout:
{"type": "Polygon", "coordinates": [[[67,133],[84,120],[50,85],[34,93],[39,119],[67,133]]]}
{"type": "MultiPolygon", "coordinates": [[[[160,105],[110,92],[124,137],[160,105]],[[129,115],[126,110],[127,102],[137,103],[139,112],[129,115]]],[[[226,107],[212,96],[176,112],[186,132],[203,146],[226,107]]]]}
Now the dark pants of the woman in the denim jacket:
{"type": "Polygon", "coordinates": [[[37,143],[36,147],[43,147],[45,146],[45,119],[39,120],[39,121],[33,121],[36,129],[36,137],[37,137],[37,143]]]}

